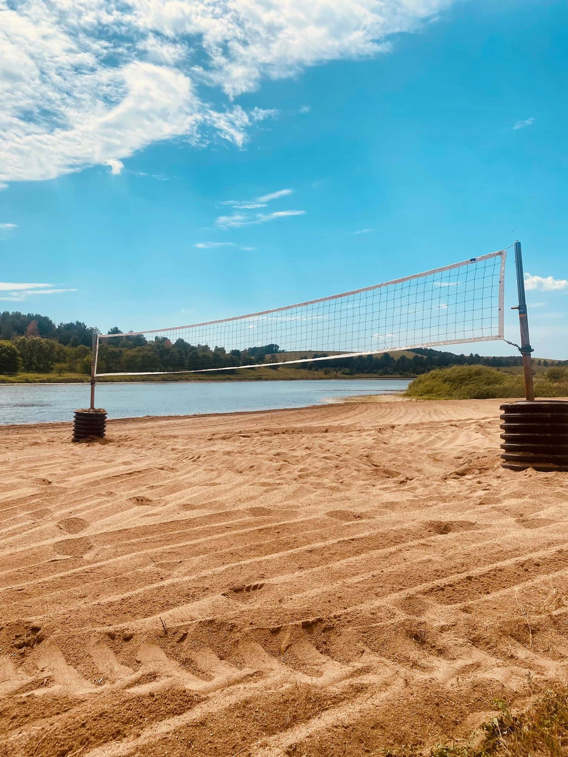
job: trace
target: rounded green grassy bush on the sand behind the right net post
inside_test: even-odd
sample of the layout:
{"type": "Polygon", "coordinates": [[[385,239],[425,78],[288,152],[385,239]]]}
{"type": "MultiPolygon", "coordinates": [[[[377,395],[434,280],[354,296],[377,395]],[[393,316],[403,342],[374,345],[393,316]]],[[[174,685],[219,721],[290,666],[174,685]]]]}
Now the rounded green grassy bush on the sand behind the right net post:
{"type": "MultiPolygon", "coordinates": [[[[550,381],[535,381],[537,397],[561,397],[562,386],[550,381]]],[[[406,391],[407,397],[440,400],[488,400],[524,397],[522,375],[509,375],[486,366],[454,366],[442,368],[415,378],[406,391]]]]}

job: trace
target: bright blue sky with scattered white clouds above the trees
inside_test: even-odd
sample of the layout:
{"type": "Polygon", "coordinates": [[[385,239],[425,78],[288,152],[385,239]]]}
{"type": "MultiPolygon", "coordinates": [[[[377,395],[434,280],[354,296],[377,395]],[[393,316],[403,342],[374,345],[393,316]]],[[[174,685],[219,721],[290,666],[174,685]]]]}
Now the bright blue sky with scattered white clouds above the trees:
{"type": "MultiPolygon", "coordinates": [[[[567,32],[560,0],[0,0],[0,310],[181,326],[519,239],[567,359],[567,32]]],[[[513,342],[516,304],[510,254],[513,342]]]]}

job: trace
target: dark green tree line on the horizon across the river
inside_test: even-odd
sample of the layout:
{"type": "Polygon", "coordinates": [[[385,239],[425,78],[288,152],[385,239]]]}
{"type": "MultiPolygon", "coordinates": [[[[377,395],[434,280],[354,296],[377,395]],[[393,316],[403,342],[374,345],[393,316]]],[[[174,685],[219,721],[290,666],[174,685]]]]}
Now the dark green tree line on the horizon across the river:
{"type": "MultiPolygon", "coordinates": [[[[93,332],[99,330],[81,321],[60,323],[57,326],[47,316],[38,313],[9,313],[0,316],[0,373],[25,372],[83,372],[91,370],[91,344],[93,332]]],[[[230,369],[242,366],[273,365],[278,360],[299,358],[307,363],[292,367],[323,370],[342,375],[420,375],[435,368],[462,365],[492,367],[520,366],[518,357],[482,357],[478,354],[457,355],[426,348],[412,350],[411,357],[393,357],[389,353],[335,357],[312,361],[310,358],[327,357],[325,353],[292,355],[278,344],[253,345],[246,350],[225,350],[208,344],[189,344],[183,339],[170,341],[165,337],[147,339],[144,335],[113,336],[122,333],[117,326],[110,329],[108,338],[100,341],[98,372],[182,372],[199,369],[230,369]]],[[[548,365],[547,361],[544,361],[548,365]]]]}

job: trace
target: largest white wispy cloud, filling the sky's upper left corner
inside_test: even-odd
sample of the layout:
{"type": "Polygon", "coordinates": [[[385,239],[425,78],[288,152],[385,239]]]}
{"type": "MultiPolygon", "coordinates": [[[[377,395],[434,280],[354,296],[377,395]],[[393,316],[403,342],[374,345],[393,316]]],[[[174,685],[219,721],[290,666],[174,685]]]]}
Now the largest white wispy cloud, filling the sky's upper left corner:
{"type": "MultiPolygon", "coordinates": [[[[51,179],[164,139],[242,147],[264,79],[389,51],[455,0],[0,0],[0,182],[51,179]],[[212,110],[201,87],[216,87],[212,110]]],[[[211,98],[211,90],[205,90],[211,98]]]]}

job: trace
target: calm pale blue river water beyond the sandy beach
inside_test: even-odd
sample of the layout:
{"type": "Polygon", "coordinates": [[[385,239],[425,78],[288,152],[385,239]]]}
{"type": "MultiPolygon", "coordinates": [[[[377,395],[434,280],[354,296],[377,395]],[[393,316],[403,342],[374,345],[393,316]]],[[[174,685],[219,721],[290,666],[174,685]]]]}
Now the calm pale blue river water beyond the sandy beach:
{"type": "MultiPolygon", "coordinates": [[[[264,382],[179,382],[98,384],[96,406],[108,418],[185,416],[306,407],[334,397],[393,394],[401,379],[333,379],[264,382]]],[[[88,384],[2,384],[0,425],[73,420],[73,410],[89,407],[88,384]]]]}

